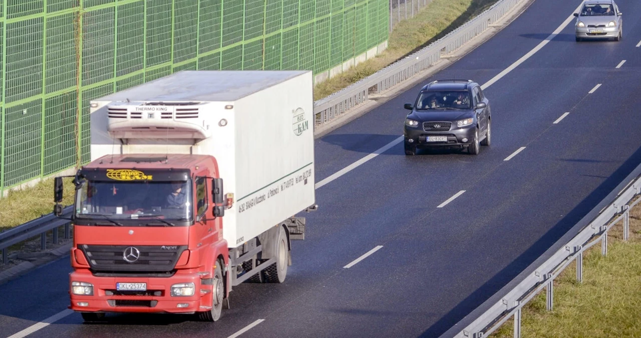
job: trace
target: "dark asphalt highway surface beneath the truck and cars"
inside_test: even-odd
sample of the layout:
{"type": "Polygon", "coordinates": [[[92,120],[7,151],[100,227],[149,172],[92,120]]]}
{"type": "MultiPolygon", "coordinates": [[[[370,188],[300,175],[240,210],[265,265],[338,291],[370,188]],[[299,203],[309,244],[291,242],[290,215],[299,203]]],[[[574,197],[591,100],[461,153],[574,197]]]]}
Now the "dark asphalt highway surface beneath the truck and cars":
{"type": "MultiPolygon", "coordinates": [[[[405,156],[398,143],[320,187],[320,210],[308,214],[306,240],[292,242],[294,264],[285,283],[236,287],[221,321],[114,315],[88,325],[72,313],[28,337],[229,337],[259,320],[242,336],[442,334],[641,163],[641,47],[635,47],[641,3],[618,3],[622,41],[575,42],[570,22],[485,89],[492,101],[492,145],[478,156],[405,156]]],[[[548,37],[578,4],[535,1],[510,26],[426,81],[486,83],[548,37]]],[[[412,102],[418,89],[317,140],[317,180],[402,135],[403,103],[412,102]]],[[[69,271],[65,258],[0,286],[0,336],[64,310],[69,271]]]]}

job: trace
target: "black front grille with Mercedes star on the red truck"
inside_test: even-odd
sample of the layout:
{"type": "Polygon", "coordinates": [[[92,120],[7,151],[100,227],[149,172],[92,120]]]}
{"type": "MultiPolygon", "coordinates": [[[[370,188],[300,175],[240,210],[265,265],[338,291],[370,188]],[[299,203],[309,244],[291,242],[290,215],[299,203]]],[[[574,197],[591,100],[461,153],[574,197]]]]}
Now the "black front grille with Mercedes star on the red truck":
{"type": "Polygon", "coordinates": [[[94,272],[154,272],[172,271],[187,246],[124,246],[81,245],[94,272]],[[131,262],[125,260],[127,257],[131,262]]]}

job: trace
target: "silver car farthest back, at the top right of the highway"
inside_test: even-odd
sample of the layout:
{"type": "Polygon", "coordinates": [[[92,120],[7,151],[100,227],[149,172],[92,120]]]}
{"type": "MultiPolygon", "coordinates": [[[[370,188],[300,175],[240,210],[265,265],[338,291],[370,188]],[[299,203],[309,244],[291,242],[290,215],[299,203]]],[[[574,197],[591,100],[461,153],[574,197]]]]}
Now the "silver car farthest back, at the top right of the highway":
{"type": "Polygon", "coordinates": [[[623,37],[621,15],[613,0],[584,1],[581,11],[574,13],[576,40],[614,38],[619,41],[623,37]]]}

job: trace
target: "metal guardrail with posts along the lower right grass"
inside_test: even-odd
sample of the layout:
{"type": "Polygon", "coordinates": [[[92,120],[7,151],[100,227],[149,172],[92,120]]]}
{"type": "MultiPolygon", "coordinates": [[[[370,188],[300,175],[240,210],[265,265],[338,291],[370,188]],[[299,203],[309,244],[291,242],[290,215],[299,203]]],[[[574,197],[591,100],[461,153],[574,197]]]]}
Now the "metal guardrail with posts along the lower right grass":
{"type": "Polygon", "coordinates": [[[628,241],[629,209],[641,199],[629,203],[640,194],[641,165],[535,262],[441,337],[486,337],[510,317],[514,317],[514,337],[520,337],[522,307],[546,289],[546,307],[552,310],[554,278],[565,267],[576,261],[576,279],[582,282],[583,251],[601,242],[601,253],[605,256],[608,253],[608,231],[621,220],[623,239],[628,241]],[[606,203],[610,204],[603,207],[606,203]]]}

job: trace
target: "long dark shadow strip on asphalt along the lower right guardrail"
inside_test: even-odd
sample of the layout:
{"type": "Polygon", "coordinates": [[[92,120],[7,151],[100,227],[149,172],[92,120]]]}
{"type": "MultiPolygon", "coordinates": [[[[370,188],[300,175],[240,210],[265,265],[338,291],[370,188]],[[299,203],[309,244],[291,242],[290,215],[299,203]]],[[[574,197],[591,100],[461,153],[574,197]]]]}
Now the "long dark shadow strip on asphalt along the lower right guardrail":
{"type": "MultiPolygon", "coordinates": [[[[619,185],[619,183],[621,183],[640,163],[641,147],[638,148],[633,155],[629,156],[626,162],[624,162],[610,177],[606,178],[601,185],[594,189],[587,198],[583,199],[583,201],[572,209],[569,214],[556,223],[553,228],[538,239],[538,241],[531,247],[526,249],[522,255],[513,260],[512,263],[506,266],[499,273],[492,276],[492,278],[490,278],[485,284],[472,292],[472,294],[465,298],[465,300],[458,303],[458,305],[445,314],[445,316],[438,319],[438,321],[434,323],[434,325],[430,326],[428,330],[423,332],[420,337],[438,337],[449,330],[449,328],[456,325],[456,323],[461,321],[463,317],[469,316],[469,319],[461,323],[459,327],[460,330],[463,330],[465,326],[469,325],[472,320],[480,316],[488,307],[479,309],[478,313],[470,314],[470,312],[473,312],[474,309],[483,305],[485,301],[488,301],[490,306],[494,305],[497,301],[500,301],[506,292],[515,287],[523,278],[526,278],[526,276],[533,273],[535,267],[529,267],[530,264],[533,264],[537,258],[541,258],[541,260],[537,262],[537,266],[544,262],[545,259],[549,258],[548,255],[542,257],[545,251],[551,249],[551,252],[554,253],[558,249],[562,248],[567,241],[572,239],[572,237],[594,220],[602,208],[610,205],[612,201],[606,201],[606,203],[601,203],[601,201],[606,198],[608,194],[612,192],[616,193],[617,191],[613,190],[615,190],[617,185],[619,185]],[[562,237],[563,241],[560,241],[562,237]],[[557,241],[562,243],[557,243],[557,241]],[[519,278],[517,283],[510,283],[514,278],[517,278],[519,274],[522,274],[522,276],[519,278]],[[503,287],[505,287],[505,290],[503,290],[501,294],[497,294],[497,292],[501,291],[503,287]]],[[[489,244],[488,250],[491,249],[491,244],[489,244]]]]}

